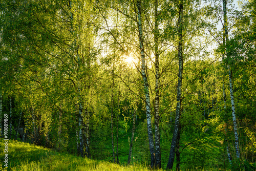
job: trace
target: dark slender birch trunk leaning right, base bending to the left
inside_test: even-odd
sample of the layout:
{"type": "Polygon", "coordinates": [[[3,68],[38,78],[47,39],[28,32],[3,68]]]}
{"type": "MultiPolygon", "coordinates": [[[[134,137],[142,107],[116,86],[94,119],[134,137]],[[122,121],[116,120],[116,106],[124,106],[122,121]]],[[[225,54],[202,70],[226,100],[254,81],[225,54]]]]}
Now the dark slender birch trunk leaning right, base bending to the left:
{"type": "Polygon", "coordinates": [[[167,169],[172,169],[174,165],[174,157],[175,157],[175,147],[177,143],[177,138],[179,134],[179,124],[180,124],[180,111],[181,111],[181,87],[182,87],[182,74],[183,74],[183,52],[182,52],[182,45],[183,45],[183,39],[182,39],[182,26],[183,25],[183,0],[180,3],[179,6],[179,74],[178,74],[178,86],[177,86],[177,105],[176,105],[176,116],[175,116],[175,127],[174,127],[174,133],[173,133],[173,139],[172,144],[170,146],[170,154],[169,154],[169,160],[167,163],[167,169]]]}

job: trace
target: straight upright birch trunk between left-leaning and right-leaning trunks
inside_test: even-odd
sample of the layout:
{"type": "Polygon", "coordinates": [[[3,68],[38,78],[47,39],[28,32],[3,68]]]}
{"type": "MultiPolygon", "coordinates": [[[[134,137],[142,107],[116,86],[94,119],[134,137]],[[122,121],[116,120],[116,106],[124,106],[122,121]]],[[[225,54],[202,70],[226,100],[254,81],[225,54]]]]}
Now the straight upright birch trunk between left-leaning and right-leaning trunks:
{"type": "Polygon", "coordinates": [[[161,147],[160,147],[160,129],[159,129],[159,51],[158,51],[158,0],[155,0],[155,69],[156,69],[156,86],[155,86],[155,147],[156,147],[156,167],[161,168],[161,147]]]}

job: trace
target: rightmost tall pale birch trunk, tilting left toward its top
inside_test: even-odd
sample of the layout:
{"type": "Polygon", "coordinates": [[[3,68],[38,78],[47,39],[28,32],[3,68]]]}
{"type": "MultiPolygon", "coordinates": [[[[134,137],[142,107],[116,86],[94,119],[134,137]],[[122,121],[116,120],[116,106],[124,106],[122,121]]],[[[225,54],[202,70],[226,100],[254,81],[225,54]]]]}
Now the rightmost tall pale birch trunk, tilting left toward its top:
{"type": "MultiPolygon", "coordinates": [[[[227,1],[226,0],[223,0],[223,14],[224,14],[224,30],[225,30],[225,40],[226,40],[226,57],[230,59],[229,45],[228,45],[227,1]]],[[[234,105],[234,96],[233,96],[232,71],[229,65],[228,65],[228,77],[229,77],[229,90],[230,90],[230,99],[231,99],[231,108],[232,108],[232,119],[233,119],[233,127],[234,127],[234,143],[236,145],[236,156],[237,158],[240,158],[236,107],[234,105]]]]}

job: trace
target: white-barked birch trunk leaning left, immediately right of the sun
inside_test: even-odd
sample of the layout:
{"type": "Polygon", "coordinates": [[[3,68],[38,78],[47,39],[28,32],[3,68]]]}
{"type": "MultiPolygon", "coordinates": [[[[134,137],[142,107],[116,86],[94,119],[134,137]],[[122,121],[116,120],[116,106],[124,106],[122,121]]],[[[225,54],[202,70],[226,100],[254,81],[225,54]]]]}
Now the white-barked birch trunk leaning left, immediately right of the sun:
{"type": "Polygon", "coordinates": [[[150,145],[150,154],[151,154],[151,167],[156,166],[155,159],[155,147],[153,139],[153,131],[151,124],[151,104],[150,104],[150,92],[148,90],[148,82],[146,76],[146,65],[145,65],[145,54],[144,54],[144,45],[143,45],[143,33],[142,33],[142,21],[141,21],[141,9],[140,9],[140,0],[137,1],[138,8],[138,30],[139,30],[139,41],[140,41],[140,53],[141,53],[141,74],[144,81],[144,93],[145,93],[145,102],[146,102],[146,120],[147,120],[147,134],[148,142],[150,145]]]}

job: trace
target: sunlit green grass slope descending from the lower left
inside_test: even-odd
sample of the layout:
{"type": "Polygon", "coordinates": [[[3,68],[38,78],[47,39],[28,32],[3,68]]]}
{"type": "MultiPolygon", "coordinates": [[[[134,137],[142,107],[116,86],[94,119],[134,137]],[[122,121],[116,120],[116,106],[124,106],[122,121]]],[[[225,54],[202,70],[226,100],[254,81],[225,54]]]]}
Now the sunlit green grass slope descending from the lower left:
{"type": "MultiPolygon", "coordinates": [[[[0,158],[3,166],[4,140],[0,139],[0,158]]],[[[0,167],[0,170],[3,170],[0,167]]],[[[106,161],[91,160],[29,143],[9,140],[7,170],[150,170],[145,164],[118,165],[106,161]]],[[[162,169],[161,169],[162,170],[162,169]]],[[[200,170],[195,168],[193,170],[200,170]]],[[[214,170],[214,169],[205,169],[214,170]]]]}

